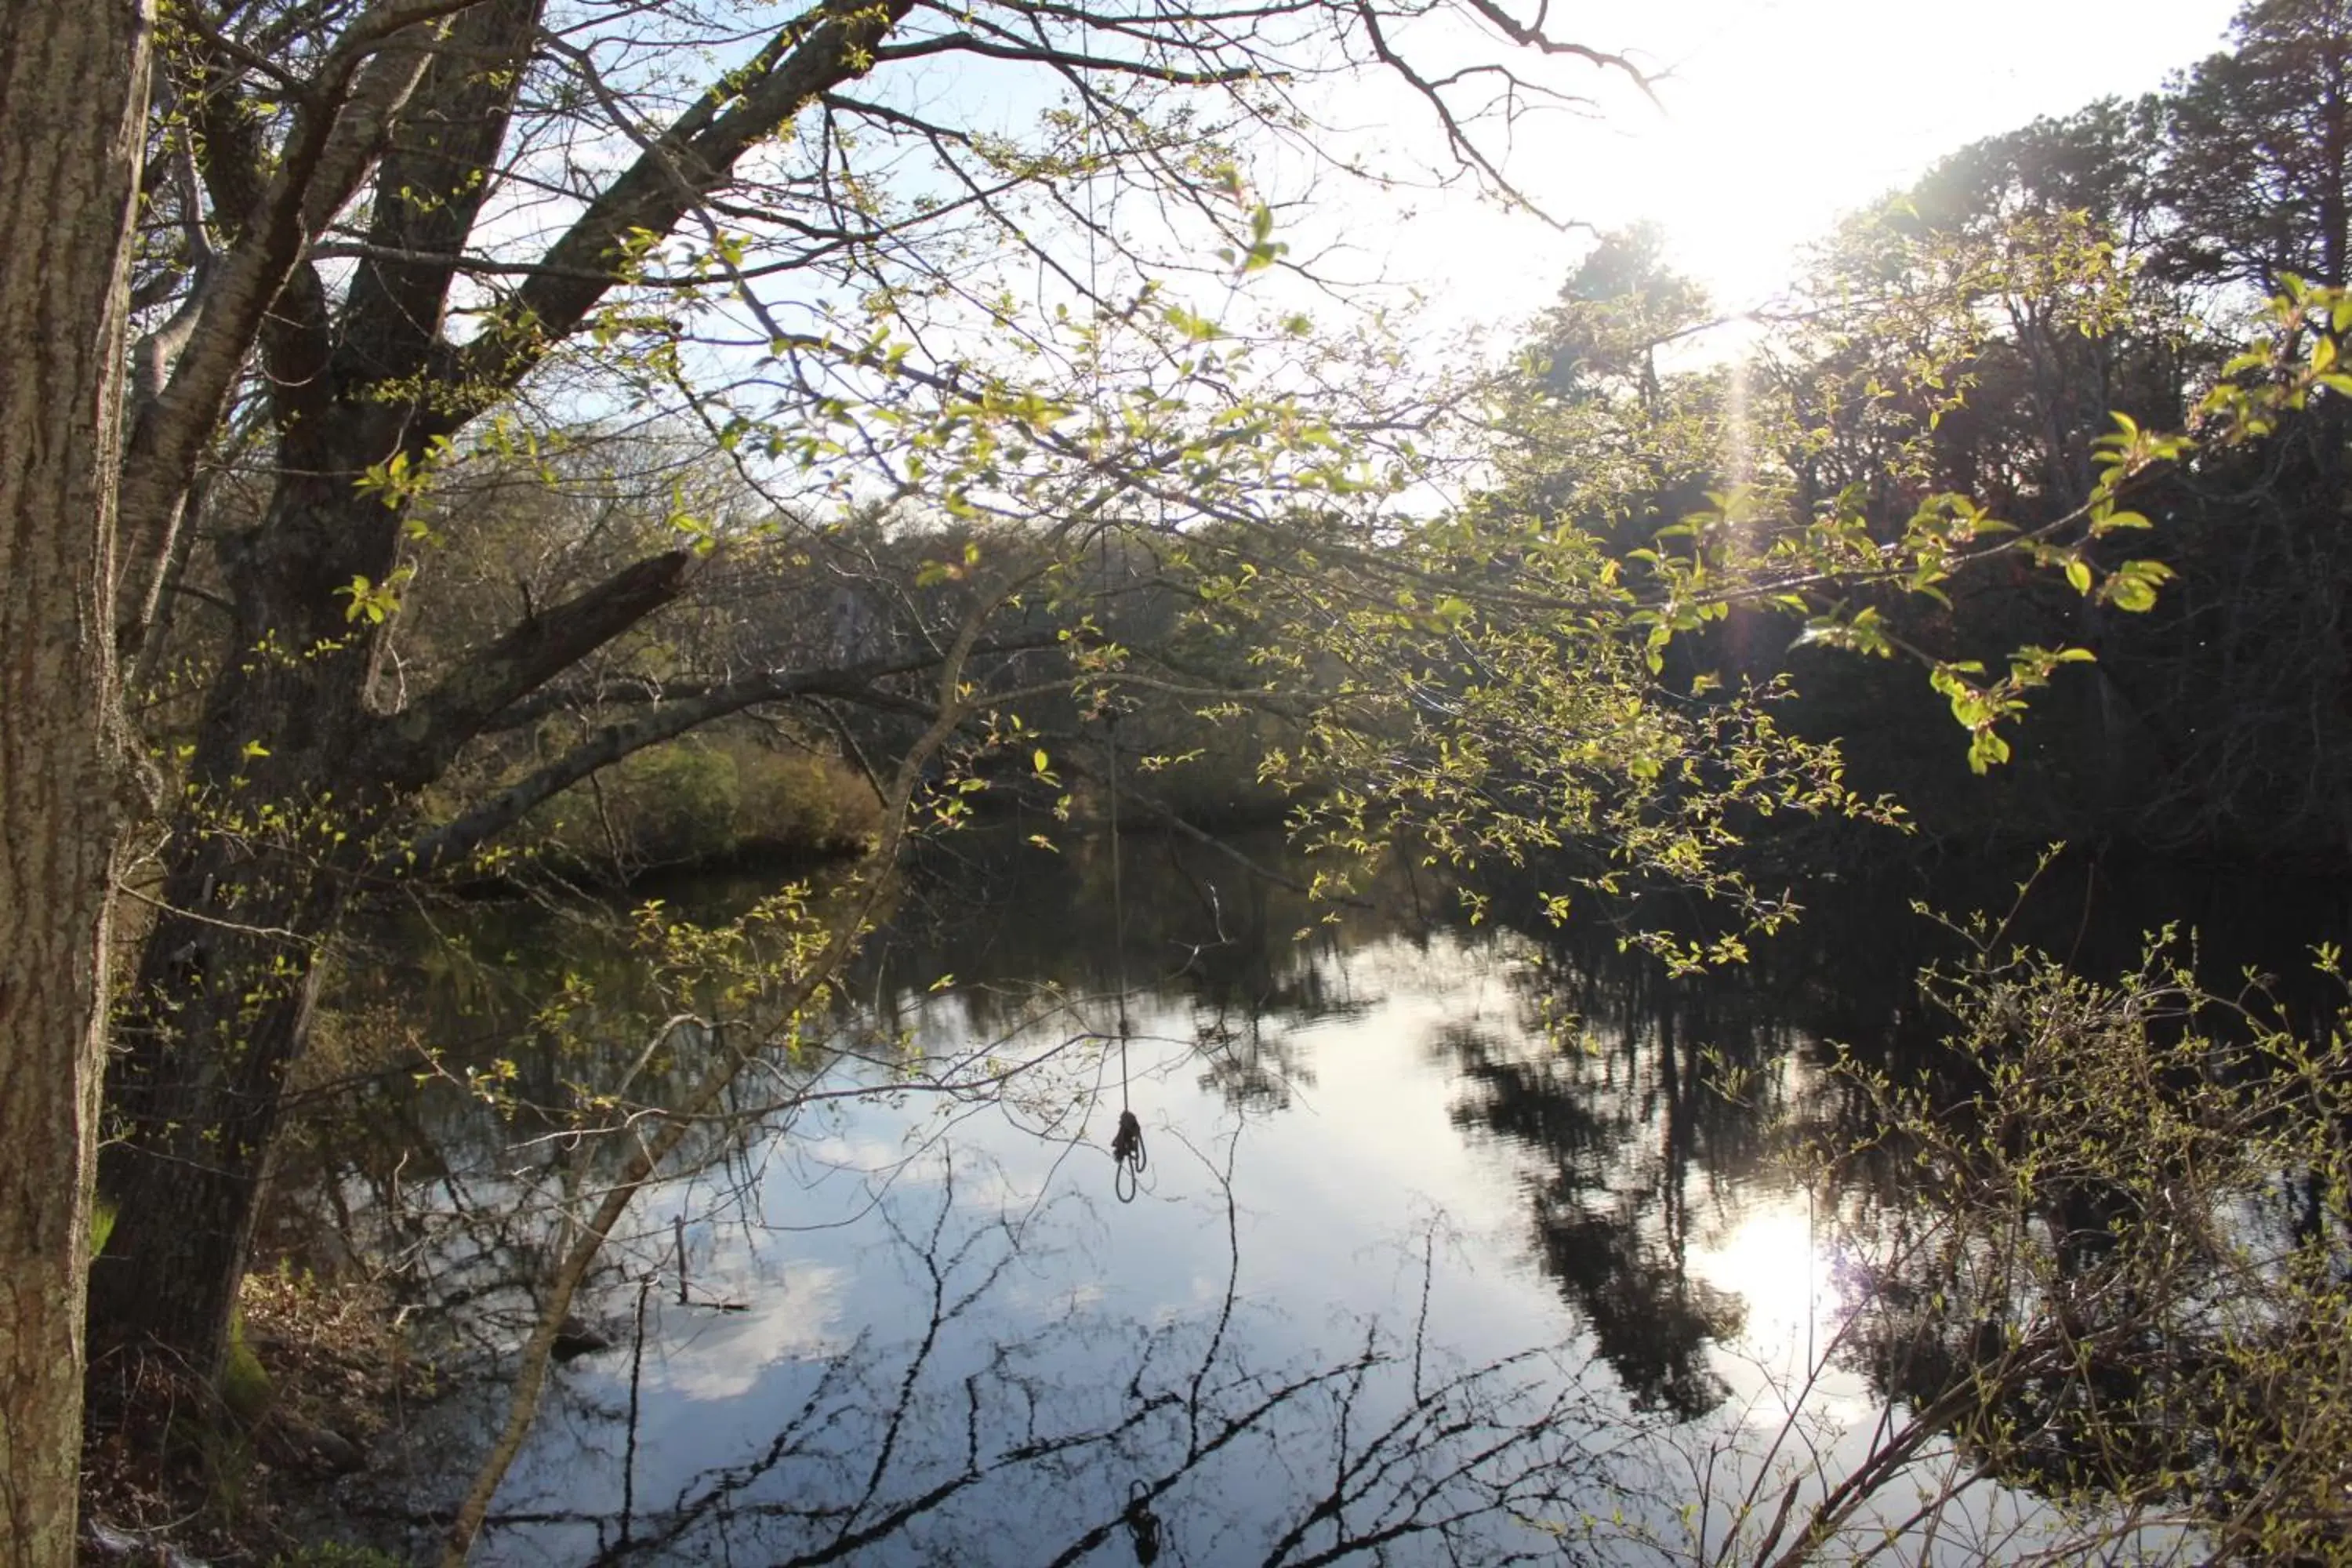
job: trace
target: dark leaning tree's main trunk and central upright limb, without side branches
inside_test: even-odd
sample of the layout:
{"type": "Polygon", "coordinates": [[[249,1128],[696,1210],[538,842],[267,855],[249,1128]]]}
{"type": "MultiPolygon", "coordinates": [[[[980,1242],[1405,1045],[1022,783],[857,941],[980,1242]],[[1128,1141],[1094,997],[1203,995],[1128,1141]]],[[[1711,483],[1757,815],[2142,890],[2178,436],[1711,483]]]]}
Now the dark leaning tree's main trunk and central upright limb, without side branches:
{"type": "MultiPolygon", "coordinates": [[[[452,59],[414,75],[379,169],[397,197],[381,202],[376,240],[459,249],[520,80],[487,66],[532,38],[536,14],[539,0],[463,9],[452,59]]],[[[205,696],[162,910],[118,1027],[118,1138],[99,1161],[118,1218],[89,1276],[92,1342],[160,1354],[207,1382],[226,1356],[325,945],[386,813],[454,750],[393,755],[397,736],[369,701],[386,628],[350,614],[355,581],[390,581],[400,552],[400,515],[360,477],[395,454],[419,458],[452,428],[414,390],[379,390],[447,357],[447,280],[435,263],[362,268],[336,322],[296,256],[259,334],[282,477],[261,520],[219,543],[230,651],[205,696]]]]}

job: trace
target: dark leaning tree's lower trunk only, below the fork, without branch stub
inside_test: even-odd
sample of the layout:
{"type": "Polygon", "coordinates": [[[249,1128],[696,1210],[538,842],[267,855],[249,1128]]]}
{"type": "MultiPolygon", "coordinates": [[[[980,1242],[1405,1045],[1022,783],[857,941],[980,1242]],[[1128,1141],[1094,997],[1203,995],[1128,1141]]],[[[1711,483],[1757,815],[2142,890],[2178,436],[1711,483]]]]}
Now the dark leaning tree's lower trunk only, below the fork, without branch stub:
{"type": "Polygon", "coordinates": [[[339,515],[327,487],[289,477],[223,550],[238,654],[207,693],[106,1093],[118,1135],[99,1192],[115,1229],[89,1274],[92,1342],[162,1352],[205,1382],[228,1345],[320,943],[386,804],[355,776],[376,639],[343,623],[327,574],[383,581],[390,543],[336,527],[376,520],[339,515]]]}

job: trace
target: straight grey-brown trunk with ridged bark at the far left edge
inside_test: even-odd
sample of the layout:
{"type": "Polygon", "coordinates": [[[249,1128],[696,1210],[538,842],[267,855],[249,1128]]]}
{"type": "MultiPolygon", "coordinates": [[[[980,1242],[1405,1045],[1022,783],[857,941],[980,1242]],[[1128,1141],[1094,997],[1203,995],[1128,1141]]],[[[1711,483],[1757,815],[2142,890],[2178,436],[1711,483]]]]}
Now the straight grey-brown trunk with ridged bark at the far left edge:
{"type": "Polygon", "coordinates": [[[73,1561],[143,0],[0,5],[0,1556],[73,1561]]]}

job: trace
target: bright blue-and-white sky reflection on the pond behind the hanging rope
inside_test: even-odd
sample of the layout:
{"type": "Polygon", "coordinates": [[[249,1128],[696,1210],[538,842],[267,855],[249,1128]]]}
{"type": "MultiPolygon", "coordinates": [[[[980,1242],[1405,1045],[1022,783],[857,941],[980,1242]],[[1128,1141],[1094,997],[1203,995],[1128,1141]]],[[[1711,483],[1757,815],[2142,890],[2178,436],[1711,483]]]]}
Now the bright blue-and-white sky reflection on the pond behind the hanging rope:
{"type": "MultiPolygon", "coordinates": [[[[1806,1194],[1719,1100],[1700,1110],[1686,1041],[1555,1044],[1510,938],[1279,961],[1319,971],[1312,1006],[1214,1020],[1183,987],[1131,1001],[1150,1143],[1131,1206],[1103,1150],[1117,1053],[1091,1046],[1054,1067],[1098,1086],[1087,1143],[1018,1110],[835,1100],[748,1168],[649,1194],[621,1253],[663,1269],[635,1453],[621,1286],[595,1302],[621,1349],[557,1375],[482,1561],[1138,1561],[1138,1493],[1178,1563],[1350,1540],[1362,1561],[1564,1540],[1571,1559],[1668,1561],[1653,1547],[1686,1542],[1693,1467],[1719,1537],[1722,1497],[1762,1474],[1752,1455],[1799,1396],[1804,1441],[1860,1458],[1865,1380],[1804,1382],[1837,1314],[1806,1194]],[[673,1300],[673,1215],[694,1298],[743,1312],[673,1300]],[[1367,1347],[1378,1363],[1345,1371],[1367,1347]],[[1207,1450],[1204,1429],[1223,1434],[1207,1450]],[[1588,1540],[1588,1514],[1628,1523],[1588,1540]]],[[[974,1044],[983,1013],[953,992],[898,1006],[931,1053],[974,1044]]],[[[1769,1072],[1802,1093],[1799,1063],[1769,1072]]]]}

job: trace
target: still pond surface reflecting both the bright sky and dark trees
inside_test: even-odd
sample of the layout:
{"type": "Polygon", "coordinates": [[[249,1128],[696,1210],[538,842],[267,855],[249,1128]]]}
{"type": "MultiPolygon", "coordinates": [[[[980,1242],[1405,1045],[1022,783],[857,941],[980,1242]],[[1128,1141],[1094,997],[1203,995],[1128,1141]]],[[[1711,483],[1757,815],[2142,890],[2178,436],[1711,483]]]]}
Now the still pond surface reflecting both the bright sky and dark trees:
{"type": "MultiPolygon", "coordinates": [[[[1472,929],[1423,886],[1322,924],[1230,860],[1122,870],[1117,905],[1103,849],[906,905],[790,1107],[633,1208],[583,1305],[612,1347],[557,1373],[480,1561],[1748,1561],[1900,1429],[1795,1157],[1842,1114],[1830,1034],[1933,1027],[1900,898],[1670,985],[1606,931],[1472,929]]],[[[470,945],[529,994],[579,940],[470,945]]],[[[376,983],[496,1037],[477,978],[376,983]]],[[[560,1140],[449,1093],[374,1126],[336,1201],[397,1190],[421,1321],[496,1366],[543,1241],[485,1215],[564,1201],[560,1140]]],[[[499,1394],[421,1418],[353,1509],[430,1540],[499,1394]]],[[[2046,1507],[1971,1476],[1924,1443],[1856,1556],[1889,1528],[1893,1561],[2030,1554],[2046,1507]]]]}

